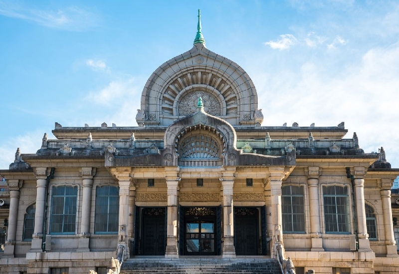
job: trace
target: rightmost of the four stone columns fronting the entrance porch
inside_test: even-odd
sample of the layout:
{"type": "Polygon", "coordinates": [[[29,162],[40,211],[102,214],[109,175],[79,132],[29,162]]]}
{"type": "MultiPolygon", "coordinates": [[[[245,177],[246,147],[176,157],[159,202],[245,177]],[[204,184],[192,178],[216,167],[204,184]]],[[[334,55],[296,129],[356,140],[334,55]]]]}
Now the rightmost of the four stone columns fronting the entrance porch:
{"type": "Polygon", "coordinates": [[[275,256],[275,248],[277,244],[281,245],[282,252],[284,253],[283,245],[283,231],[282,231],[282,212],[281,212],[281,184],[284,178],[284,168],[269,168],[270,187],[271,187],[271,219],[272,219],[272,252],[275,256]]]}

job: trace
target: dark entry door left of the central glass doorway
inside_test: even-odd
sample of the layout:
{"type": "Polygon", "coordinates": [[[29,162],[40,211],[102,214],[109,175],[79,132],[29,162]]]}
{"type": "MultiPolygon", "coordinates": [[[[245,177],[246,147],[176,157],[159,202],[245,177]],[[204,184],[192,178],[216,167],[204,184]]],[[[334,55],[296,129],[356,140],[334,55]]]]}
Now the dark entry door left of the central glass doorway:
{"type": "Polygon", "coordinates": [[[143,216],[142,247],[144,256],[162,256],[166,249],[164,216],[143,216]]]}

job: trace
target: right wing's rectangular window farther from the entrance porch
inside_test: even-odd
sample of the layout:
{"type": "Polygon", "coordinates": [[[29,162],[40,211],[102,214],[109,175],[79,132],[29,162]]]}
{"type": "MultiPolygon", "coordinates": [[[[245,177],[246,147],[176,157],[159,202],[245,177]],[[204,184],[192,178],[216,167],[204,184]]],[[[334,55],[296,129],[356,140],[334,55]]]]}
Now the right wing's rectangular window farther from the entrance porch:
{"type": "Polygon", "coordinates": [[[348,188],[323,186],[323,198],[326,233],[351,232],[348,188]]]}

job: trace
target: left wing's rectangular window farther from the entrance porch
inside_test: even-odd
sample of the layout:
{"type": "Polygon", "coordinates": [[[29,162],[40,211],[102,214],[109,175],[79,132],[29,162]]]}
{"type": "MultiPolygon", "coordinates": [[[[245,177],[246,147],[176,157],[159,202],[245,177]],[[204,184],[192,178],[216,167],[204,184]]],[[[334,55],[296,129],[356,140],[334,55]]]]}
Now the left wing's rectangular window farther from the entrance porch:
{"type": "Polygon", "coordinates": [[[77,187],[52,189],[50,233],[75,233],[77,194],[77,187]]]}

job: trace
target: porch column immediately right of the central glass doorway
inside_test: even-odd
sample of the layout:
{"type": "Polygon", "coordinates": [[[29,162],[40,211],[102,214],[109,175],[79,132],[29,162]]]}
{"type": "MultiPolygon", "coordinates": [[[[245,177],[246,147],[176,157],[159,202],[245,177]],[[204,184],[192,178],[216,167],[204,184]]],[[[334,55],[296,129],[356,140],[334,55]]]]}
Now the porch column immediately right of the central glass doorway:
{"type": "Polygon", "coordinates": [[[234,248],[234,210],[233,185],[234,174],[220,179],[223,188],[223,258],[235,258],[234,248]]]}

